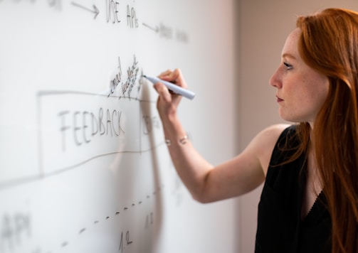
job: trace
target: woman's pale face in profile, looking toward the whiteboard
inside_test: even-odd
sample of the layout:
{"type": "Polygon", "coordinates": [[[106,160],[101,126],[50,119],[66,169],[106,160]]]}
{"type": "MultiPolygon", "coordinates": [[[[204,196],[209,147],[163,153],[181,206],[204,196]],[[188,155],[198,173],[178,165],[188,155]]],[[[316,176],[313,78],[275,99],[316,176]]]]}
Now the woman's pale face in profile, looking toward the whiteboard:
{"type": "Polygon", "coordinates": [[[282,119],[309,122],[313,126],[328,95],[329,80],[303,62],[298,53],[300,34],[300,28],[296,28],[286,39],[281,63],[270,78],[270,85],[277,89],[282,119]]]}

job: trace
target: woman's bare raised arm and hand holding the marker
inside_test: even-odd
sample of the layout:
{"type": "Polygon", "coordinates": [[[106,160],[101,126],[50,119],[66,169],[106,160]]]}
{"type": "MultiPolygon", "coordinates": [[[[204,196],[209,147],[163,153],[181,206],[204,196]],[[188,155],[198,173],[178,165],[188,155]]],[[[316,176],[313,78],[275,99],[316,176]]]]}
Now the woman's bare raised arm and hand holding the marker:
{"type": "MultiPolygon", "coordinates": [[[[167,70],[159,77],[187,87],[178,69],[167,70]]],[[[265,180],[273,147],[287,125],[264,129],[241,154],[219,166],[212,166],[186,139],[186,132],[177,117],[181,96],[171,94],[160,82],[154,87],[159,93],[157,109],[162,119],[164,136],[170,141],[169,154],[181,181],[193,198],[201,203],[209,203],[236,197],[253,190],[265,180]]]]}

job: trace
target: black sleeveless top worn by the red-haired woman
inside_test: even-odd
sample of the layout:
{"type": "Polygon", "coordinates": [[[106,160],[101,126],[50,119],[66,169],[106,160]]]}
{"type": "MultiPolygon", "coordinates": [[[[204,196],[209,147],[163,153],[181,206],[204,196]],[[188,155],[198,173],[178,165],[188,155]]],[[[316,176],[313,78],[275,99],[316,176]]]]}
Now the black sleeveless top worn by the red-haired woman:
{"type": "Polygon", "coordinates": [[[292,163],[280,165],[287,161],[297,146],[295,126],[290,126],[283,131],[275,145],[261,193],[256,253],[331,252],[332,223],[323,193],[301,220],[306,182],[305,155],[292,163]]]}

